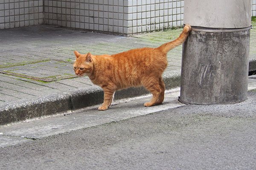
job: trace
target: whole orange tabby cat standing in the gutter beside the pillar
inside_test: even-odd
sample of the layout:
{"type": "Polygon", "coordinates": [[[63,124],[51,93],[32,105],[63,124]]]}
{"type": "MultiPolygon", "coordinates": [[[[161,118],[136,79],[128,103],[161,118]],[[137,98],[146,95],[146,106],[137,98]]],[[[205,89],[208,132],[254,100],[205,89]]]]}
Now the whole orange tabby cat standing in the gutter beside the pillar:
{"type": "Polygon", "coordinates": [[[150,102],[146,102],[144,106],[161,104],[165,91],[162,74],[167,67],[166,54],[183,43],[190,30],[191,26],[184,26],[176,40],[158,48],[137,48],[119,54],[99,56],[74,51],[74,71],[78,76],[87,75],[93,84],[103,89],[104,102],[99,110],[106,110],[111,106],[115,91],[133,86],[144,86],[153,94],[150,102]]]}

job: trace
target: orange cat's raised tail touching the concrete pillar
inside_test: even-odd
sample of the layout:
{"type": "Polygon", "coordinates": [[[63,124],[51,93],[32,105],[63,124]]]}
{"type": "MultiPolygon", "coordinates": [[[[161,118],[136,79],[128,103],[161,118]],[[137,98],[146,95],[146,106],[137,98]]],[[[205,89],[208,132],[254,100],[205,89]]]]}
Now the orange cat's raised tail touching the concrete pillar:
{"type": "Polygon", "coordinates": [[[184,41],[186,41],[186,38],[189,36],[190,30],[191,30],[191,26],[185,25],[184,28],[183,28],[182,33],[180,34],[180,36],[178,38],[176,38],[175,40],[173,40],[171,42],[167,42],[167,43],[161,45],[158,48],[160,49],[160,51],[163,51],[164,53],[167,53],[172,48],[175,48],[178,45],[182,44],[184,41]]]}

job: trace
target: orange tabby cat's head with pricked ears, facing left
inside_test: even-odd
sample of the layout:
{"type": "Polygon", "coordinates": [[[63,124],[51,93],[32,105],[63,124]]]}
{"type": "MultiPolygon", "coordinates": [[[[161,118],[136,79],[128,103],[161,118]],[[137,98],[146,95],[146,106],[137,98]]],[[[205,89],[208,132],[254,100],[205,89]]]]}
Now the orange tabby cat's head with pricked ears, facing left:
{"type": "Polygon", "coordinates": [[[93,60],[91,54],[79,54],[79,52],[74,51],[76,55],[76,61],[73,64],[73,69],[77,76],[81,77],[84,75],[92,76],[93,73],[93,60]]]}

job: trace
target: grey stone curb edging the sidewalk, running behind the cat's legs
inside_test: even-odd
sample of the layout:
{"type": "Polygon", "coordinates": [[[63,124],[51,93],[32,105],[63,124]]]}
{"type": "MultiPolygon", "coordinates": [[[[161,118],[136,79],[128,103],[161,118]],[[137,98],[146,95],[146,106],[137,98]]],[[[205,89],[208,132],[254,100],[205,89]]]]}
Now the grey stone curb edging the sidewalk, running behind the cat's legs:
{"type": "MultiPolygon", "coordinates": [[[[180,85],[180,74],[163,75],[166,89],[180,85]]],[[[145,88],[128,88],[117,91],[115,99],[125,99],[148,94],[145,88]]],[[[9,102],[0,108],[0,125],[20,122],[26,119],[48,116],[67,111],[74,111],[103,102],[101,88],[79,89],[67,93],[52,94],[36,99],[24,99],[19,102],[9,102]]]]}

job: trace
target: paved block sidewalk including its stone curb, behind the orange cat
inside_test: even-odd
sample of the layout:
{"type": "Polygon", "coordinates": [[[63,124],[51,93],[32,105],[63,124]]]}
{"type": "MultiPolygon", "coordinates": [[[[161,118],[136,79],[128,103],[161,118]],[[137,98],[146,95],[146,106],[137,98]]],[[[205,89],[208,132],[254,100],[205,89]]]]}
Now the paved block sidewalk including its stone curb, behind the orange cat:
{"type": "MultiPolygon", "coordinates": [[[[158,47],[177,38],[181,31],[122,37],[48,25],[0,30],[0,125],[103,102],[101,88],[88,77],[75,76],[74,50],[97,55],[158,47]]],[[[169,64],[163,74],[166,89],[180,85],[181,56],[182,45],[168,53],[169,64]]],[[[256,70],[254,29],[250,37],[251,70],[256,70]]],[[[144,88],[129,88],[118,91],[115,99],[146,93],[144,88]]]]}

